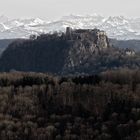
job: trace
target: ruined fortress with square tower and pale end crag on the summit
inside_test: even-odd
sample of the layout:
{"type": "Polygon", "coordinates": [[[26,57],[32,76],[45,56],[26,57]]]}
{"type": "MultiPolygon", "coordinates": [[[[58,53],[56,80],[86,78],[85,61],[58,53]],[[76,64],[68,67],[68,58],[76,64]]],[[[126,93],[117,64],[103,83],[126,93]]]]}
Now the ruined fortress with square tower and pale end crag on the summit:
{"type": "Polygon", "coordinates": [[[73,40],[73,41],[77,41],[77,40],[81,40],[82,42],[87,41],[87,43],[89,44],[84,44],[84,45],[92,46],[94,44],[94,46],[99,49],[109,47],[109,42],[106,33],[98,29],[72,30],[72,28],[67,27],[66,38],[68,40],[73,40]]]}

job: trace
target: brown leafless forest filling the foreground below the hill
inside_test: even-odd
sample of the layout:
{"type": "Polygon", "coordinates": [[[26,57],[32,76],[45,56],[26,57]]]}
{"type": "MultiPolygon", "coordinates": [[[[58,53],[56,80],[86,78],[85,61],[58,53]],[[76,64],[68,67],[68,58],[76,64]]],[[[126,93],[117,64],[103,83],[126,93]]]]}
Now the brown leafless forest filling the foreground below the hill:
{"type": "Polygon", "coordinates": [[[140,139],[140,70],[0,74],[1,140],[140,139]]]}

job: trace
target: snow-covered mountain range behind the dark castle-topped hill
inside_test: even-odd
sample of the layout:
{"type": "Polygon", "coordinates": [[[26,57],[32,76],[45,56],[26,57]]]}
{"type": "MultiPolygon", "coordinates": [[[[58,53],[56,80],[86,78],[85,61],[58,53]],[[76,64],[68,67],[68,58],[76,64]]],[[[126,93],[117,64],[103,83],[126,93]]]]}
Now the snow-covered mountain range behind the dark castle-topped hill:
{"type": "Polygon", "coordinates": [[[0,39],[28,38],[31,34],[65,31],[66,27],[98,28],[104,30],[110,38],[140,40],[140,18],[130,19],[123,16],[106,18],[97,14],[64,16],[56,21],[44,21],[39,18],[10,20],[6,16],[0,16],[0,39]]]}

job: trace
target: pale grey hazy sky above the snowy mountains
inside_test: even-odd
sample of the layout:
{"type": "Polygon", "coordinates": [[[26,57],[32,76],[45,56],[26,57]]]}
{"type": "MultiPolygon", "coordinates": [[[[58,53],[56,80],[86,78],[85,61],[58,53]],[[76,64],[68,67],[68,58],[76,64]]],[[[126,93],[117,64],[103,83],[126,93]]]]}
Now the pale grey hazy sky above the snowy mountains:
{"type": "Polygon", "coordinates": [[[46,20],[69,14],[140,17],[140,0],[0,0],[0,14],[46,20]]]}

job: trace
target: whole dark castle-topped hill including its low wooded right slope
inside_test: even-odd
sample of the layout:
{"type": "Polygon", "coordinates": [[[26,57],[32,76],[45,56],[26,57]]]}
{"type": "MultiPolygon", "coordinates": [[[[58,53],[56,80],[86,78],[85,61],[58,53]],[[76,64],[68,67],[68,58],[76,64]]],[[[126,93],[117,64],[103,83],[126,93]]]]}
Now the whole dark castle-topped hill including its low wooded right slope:
{"type": "Polygon", "coordinates": [[[132,49],[112,47],[104,31],[68,27],[66,33],[11,43],[0,58],[0,71],[93,74],[120,67],[138,68],[139,60],[132,49]]]}

